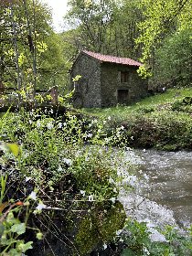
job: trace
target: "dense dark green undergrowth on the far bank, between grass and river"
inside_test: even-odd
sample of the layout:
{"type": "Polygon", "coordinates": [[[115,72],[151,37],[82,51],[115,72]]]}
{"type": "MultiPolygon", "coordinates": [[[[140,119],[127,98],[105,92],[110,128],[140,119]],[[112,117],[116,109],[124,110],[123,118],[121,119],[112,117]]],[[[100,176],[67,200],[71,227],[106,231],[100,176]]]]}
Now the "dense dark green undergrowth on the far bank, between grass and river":
{"type": "Polygon", "coordinates": [[[105,130],[110,136],[116,136],[117,129],[122,130],[119,140],[116,140],[118,145],[165,150],[191,149],[191,121],[191,115],[184,112],[131,112],[126,118],[113,116],[105,130]]]}

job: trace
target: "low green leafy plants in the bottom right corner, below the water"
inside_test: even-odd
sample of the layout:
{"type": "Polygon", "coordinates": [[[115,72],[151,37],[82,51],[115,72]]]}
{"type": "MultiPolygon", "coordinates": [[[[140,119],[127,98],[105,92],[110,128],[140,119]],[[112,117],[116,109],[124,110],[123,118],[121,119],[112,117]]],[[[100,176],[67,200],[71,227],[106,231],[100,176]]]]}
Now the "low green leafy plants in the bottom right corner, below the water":
{"type": "Polygon", "coordinates": [[[166,226],[165,229],[158,229],[159,234],[165,238],[162,240],[151,240],[151,231],[146,223],[128,219],[125,226],[127,233],[123,235],[126,249],[122,256],[144,256],[144,255],[176,255],[189,256],[191,254],[191,235],[187,230],[182,235],[178,229],[166,226]]]}

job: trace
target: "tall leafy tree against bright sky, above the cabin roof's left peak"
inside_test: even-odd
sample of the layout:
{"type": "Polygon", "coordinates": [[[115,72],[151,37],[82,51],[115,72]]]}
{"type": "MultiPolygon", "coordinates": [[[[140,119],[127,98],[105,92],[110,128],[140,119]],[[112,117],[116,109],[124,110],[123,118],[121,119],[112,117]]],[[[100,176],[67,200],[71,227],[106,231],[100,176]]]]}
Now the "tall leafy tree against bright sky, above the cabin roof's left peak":
{"type": "Polygon", "coordinates": [[[81,46],[100,52],[106,27],[112,21],[113,0],[70,0],[66,16],[70,26],[80,27],[81,46]]]}

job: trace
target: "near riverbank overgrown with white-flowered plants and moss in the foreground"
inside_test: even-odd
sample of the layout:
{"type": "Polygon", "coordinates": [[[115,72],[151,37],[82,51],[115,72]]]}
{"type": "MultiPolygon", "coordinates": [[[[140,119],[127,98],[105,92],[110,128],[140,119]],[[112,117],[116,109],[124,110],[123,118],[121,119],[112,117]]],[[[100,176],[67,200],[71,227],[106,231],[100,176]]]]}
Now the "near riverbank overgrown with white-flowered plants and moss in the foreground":
{"type": "Polygon", "coordinates": [[[183,237],[159,229],[161,240],[152,240],[148,224],[123,208],[121,191],[130,194],[137,180],[126,152],[111,146],[124,127],[106,136],[106,121],[85,121],[71,112],[60,120],[39,112],[1,118],[2,255],[190,255],[189,230],[183,237]]]}

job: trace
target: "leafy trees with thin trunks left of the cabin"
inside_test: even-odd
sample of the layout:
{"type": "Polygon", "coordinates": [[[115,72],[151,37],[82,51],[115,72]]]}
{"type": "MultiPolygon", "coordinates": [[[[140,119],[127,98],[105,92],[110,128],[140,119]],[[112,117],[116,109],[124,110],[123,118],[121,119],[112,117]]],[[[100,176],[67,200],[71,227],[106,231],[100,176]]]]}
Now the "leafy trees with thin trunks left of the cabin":
{"type": "Polygon", "coordinates": [[[17,0],[1,3],[0,12],[0,81],[4,88],[15,89],[22,100],[30,101],[37,89],[63,86],[59,70],[65,59],[48,6],[17,0]]]}

